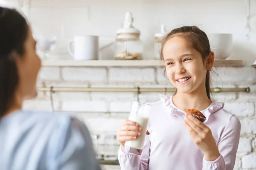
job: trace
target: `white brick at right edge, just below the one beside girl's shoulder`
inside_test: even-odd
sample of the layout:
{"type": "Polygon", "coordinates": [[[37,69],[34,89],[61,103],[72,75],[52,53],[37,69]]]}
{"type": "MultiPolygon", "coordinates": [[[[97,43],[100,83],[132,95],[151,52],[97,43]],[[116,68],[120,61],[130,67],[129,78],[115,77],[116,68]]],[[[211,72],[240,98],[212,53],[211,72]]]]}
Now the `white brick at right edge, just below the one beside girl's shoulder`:
{"type": "Polygon", "coordinates": [[[256,119],[241,119],[241,134],[256,133],[256,119]]]}

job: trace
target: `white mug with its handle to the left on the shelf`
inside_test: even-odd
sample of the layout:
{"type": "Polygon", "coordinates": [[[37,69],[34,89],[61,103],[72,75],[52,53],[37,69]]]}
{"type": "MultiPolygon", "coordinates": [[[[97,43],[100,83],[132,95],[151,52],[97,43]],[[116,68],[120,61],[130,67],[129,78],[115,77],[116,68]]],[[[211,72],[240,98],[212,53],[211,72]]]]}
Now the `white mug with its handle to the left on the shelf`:
{"type": "Polygon", "coordinates": [[[75,36],[74,40],[70,40],[67,49],[75,60],[98,59],[99,37],[91,35],[75,36]],[[74,50],[72,50],[72,45],[74,50]]]}

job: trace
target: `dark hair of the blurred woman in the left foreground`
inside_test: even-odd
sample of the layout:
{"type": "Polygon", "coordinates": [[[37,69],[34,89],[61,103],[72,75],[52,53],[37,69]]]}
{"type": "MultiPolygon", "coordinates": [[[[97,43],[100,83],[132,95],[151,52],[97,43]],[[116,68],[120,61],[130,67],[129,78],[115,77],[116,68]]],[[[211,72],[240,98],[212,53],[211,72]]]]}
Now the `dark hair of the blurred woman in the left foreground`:
{"type": "Polygon", "coordinates": [[[26,19],[15,9],[0,7],[0,117],[14,102],[19,82],[14,54],[23,56],[27,35],[26,19]]]}

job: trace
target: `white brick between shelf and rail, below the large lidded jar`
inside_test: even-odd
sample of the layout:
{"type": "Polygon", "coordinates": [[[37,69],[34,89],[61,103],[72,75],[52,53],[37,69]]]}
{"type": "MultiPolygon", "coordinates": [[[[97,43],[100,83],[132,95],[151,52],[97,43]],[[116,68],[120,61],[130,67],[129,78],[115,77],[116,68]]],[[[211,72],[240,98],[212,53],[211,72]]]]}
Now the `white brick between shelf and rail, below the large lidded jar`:
{"type": "Polygon", "coordinates": [[[109,68],[110,82],[155,82],[154,68],[109,68]]]}

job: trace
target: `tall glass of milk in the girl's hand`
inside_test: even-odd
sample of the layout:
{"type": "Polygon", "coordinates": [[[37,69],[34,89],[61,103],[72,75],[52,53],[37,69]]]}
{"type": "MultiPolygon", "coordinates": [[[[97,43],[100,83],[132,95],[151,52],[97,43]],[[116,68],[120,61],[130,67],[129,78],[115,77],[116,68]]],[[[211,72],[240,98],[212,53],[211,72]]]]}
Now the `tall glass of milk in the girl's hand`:
{"type": "Polygon", "coordinates": [[[148,129],[150,109],[151,105],[147,103],[136,101],[132,102],[129,120],[137,122],[142,130],[140,131],[141,136],[137,137],[137,139],[125,142],[124,152],[134,155],[142,154],[145,136],[148,129]]]}

